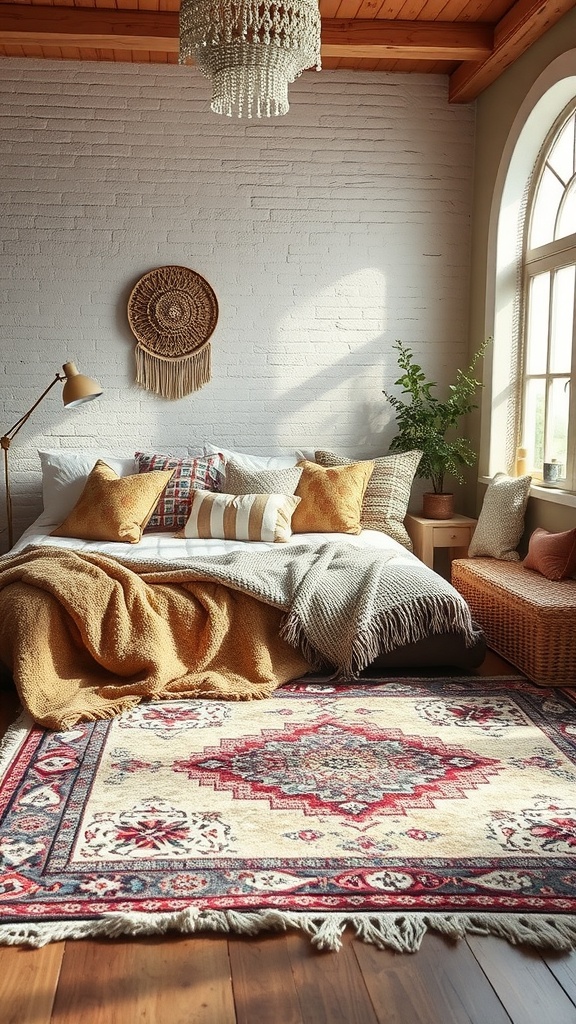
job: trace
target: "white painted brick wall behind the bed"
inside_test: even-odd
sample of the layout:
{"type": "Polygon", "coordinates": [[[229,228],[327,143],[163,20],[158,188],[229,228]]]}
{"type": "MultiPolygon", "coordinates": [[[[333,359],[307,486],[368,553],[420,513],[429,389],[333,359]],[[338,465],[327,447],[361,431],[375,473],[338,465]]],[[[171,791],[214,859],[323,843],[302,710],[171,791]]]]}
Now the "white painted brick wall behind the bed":
{"type": "Polygon", "coordinates": [[[445,78],[310,72],[250,123],[194,69],[4,59],[0,98],[0,433],[66,359],[105,388],[66,412],[57,385],[14,440],[16,534],[37,447],[376,455],[395,339],[440,381],[466,359],[474,108],[445,78]],[[134,384],[126,317],[168,263],[219,303],[212,381],[179,401],[134,384]]]}

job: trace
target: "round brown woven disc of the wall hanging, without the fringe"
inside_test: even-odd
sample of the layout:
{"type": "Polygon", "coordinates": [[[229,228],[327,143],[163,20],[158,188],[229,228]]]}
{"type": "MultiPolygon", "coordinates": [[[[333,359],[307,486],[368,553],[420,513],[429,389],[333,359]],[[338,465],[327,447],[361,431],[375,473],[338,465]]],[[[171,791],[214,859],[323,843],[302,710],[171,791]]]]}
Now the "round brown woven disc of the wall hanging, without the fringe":
{"type": "Polygon", "coordinates": [[[145,273],[128,299],[128,321],[142,348],[161,358],[181,358],[206,344],[218,321],[207,281],[188,266],[159,266],[145,273]]]}

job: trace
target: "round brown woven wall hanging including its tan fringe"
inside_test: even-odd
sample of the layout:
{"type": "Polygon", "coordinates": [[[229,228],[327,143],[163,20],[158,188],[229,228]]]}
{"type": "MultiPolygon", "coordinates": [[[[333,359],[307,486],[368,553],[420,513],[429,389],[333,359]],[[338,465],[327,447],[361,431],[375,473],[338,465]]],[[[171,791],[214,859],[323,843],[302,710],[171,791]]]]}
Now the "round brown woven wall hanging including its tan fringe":
{"type": "Polygon", "coordinates": [[[136,382],[182,398],[211,378],[210,337],[218,303],[207,281],[187,266],[159,266],[132,289],[128,322],[136,345],[136,382]]]}

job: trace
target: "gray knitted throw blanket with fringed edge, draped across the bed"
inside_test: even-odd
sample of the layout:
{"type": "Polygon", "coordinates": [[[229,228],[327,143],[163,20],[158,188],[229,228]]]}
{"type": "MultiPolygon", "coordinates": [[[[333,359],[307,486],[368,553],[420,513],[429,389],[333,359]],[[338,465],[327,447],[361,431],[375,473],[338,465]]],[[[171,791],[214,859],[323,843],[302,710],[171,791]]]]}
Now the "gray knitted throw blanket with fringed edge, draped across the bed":
{"type": "Polygon", "coordinates": [[[149,584],[208,580],[285,612],[281,634],[312,664],[354,679],[383,651],[430,634],[478,639],[461,595],[421,562],[345,543],[235,551],[215,558],[129,564],[149,584]]]}

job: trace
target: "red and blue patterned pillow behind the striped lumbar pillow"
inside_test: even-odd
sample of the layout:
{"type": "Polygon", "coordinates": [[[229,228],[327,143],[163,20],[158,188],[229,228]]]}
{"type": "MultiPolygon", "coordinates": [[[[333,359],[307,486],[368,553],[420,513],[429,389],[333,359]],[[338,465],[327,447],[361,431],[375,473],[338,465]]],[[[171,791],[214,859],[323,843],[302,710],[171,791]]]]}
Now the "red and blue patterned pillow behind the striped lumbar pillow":
{"type": "Polygon", "coordinates": [[[172,478],[150,518],[147,532],[174,532],[184,525],[192,508],[192,492],[221,490],[224,476],[224,460],[220,453],[177,458],[136,452],[134,455],[138,473],[153,470],[172,470],[172,478]]]}

